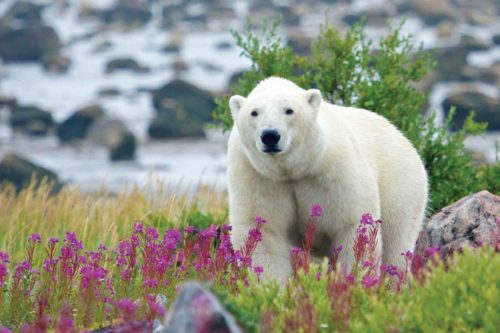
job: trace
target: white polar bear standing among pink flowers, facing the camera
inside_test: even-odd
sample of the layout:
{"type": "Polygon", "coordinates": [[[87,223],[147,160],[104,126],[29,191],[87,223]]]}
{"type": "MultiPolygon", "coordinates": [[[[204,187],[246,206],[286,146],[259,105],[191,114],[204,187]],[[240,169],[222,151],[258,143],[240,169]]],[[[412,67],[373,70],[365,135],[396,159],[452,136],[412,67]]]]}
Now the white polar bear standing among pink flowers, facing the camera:
{"type": "Polygon", "coordinates": [[[417,151],[387,119],[332,105],[317,89],[270,77],[245,98],[229,100],[229,221],[235,248],[256,215],[267,220],[253,264],[269,277],[291,274],[290,249],[300,246],[309,209],[324,214],[314,249],[342,245],[349,269],[360,217],[381,218],[382,263],[400,265],[413,251],[427,204],[427,174],[417,151]]]}

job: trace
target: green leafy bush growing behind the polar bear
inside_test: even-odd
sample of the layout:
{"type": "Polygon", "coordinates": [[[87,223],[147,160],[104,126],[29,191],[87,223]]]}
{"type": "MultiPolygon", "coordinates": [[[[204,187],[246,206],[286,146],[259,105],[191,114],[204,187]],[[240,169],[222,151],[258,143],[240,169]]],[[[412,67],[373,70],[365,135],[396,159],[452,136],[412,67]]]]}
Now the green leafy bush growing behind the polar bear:
{"type": "MultiPolygon", "coordinates": [[[[345,106],[356,106],[387,117],[410,139],[425,163],[430,179],[429,210],[435,211],[453,201],[492,187],[492,173],[479,172],[464,151],[464,139],[484,130],[484,124],[468,118],[463,129],[449,131],[453,112],[441,128],[435,117],[424,117],[425,93],[414,83],[420,81],[434,66],[431,55],[422,47],[414,48],[410,37],[399,28],[390,28],[377,51],[371,50],[362,24],[352,26],[345,36],[333,27],[323,26],[310,46],[309,57],[295,55],[278,36],[279,22],[265,25],[263,36],[252,32],[251,26],[240,34],[233,32],[242,55],[252,61],[251,69],[232,87],[234,94],[246,96],[255,85],[268,76],[287,78],[304,88],[317,88],[325,100],[345,106]]],[[[217,100],[214,121],[225,130],[232,126],[228,97],[217,100]]]]}

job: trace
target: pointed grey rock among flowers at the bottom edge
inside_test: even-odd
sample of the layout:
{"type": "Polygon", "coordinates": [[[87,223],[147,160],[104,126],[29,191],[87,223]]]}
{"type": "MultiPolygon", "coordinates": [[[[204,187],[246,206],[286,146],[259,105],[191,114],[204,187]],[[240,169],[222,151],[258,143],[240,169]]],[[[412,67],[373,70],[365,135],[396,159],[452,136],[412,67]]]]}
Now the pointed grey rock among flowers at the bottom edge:
{"type": "Polygon", "coordinates": [[[186,283],[165,319],[162,333],[243,332],[217,297],[198,283],[186,283]]]}

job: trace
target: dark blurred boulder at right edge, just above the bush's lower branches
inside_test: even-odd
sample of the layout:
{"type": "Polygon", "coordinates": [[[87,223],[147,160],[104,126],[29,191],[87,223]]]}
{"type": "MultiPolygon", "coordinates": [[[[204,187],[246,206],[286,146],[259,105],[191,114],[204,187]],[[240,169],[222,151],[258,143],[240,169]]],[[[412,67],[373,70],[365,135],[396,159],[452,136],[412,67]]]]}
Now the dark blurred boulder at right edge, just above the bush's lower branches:
{"type": "Polygon", "coordinates": [[[452,106],[456,107],[452,129],[462,128],[470,111],[476,112],[475,120],[488,122],[488,130],[500,130],[500,99],[492,98],[467,85],[459,86],[442,103],[447,115],[452,106]]]}

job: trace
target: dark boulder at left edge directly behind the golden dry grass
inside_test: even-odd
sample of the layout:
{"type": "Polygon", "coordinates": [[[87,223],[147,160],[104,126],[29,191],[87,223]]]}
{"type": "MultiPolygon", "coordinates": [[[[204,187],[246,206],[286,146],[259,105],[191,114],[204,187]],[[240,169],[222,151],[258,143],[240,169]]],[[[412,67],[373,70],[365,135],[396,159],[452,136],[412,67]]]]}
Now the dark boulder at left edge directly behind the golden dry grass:
{"type": "Polygon", "coordinates": [[[0,161],[0,184],[13,184],[17,191],[35,181],[39,185],[42,180],[54,186],[54,190],[61,188],[57,175],[46,168],[33,164],[32,162],[12,153],[6,154],[0,161]]]}

